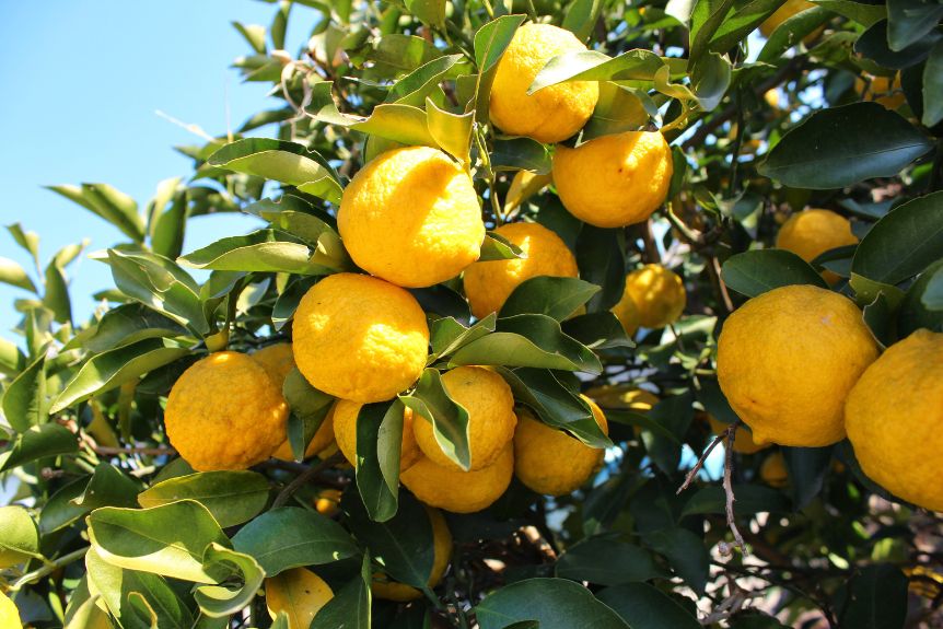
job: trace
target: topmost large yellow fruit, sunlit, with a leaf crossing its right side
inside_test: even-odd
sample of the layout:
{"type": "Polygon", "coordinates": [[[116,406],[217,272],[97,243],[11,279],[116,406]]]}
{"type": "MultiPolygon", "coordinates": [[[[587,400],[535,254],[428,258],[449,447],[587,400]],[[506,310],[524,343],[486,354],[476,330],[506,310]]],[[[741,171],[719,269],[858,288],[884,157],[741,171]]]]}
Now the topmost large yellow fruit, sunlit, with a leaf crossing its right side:
{"type": "Polygon", "coordinates": [[[557,26],[525,24],[517,28],[491,85],[491,121],[508,135],[545,143],[560,142],[579,131],[596,107],[598,83],[559,83],[531,95],[527,89],[551,58],[585,49],[572,33],[557,26]]]}

